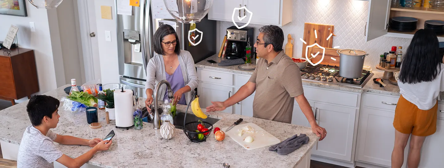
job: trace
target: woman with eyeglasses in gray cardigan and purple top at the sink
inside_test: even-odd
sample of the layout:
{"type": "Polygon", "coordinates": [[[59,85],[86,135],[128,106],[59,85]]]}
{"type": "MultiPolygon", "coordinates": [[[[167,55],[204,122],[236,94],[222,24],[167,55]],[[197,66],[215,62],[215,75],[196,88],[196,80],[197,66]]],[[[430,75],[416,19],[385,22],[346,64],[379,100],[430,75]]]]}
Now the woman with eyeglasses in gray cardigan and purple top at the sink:
{"type": "MultiPolygon", "coordinates": [[[[174,28],[168,24],[159,26],[153,36],[154,57],[147,65],[147,82],[145,92],[147,109],[153,100],[155,86],[166,80],[170,83],[174,92],[174,105],[186,105],[194,94],[194,89],[198,86],[198,77],[194,59],[190,52],[181,50],[179,39],[174,28]]],[[[168,99],[166,85],[160,87],[158,101],[168,99]]]]}

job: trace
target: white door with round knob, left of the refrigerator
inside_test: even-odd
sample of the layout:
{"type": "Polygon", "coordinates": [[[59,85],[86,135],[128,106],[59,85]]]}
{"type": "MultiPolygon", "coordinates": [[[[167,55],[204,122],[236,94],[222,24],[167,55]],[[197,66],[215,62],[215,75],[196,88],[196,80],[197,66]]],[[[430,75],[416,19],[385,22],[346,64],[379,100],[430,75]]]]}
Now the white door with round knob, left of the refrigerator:
{"type": "Polygon", "coordinates": [[[77,0],[77,4],[85,80],[88,82],[101,78],[95,4],[94,0],[77,0]]]}

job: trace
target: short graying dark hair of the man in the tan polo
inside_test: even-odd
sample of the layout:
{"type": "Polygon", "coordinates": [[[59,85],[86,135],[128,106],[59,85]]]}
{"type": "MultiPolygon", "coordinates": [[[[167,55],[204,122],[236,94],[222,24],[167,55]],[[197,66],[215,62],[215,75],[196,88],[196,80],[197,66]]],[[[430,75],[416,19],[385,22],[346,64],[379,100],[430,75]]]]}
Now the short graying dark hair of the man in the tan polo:
{"type": "Polygon", "coordinates": [[[273,45],[273,49],[276,52],[282,51],[284,45],[284,32],[281,27],[276,25],[266,25],[259,28],[259,33],[264,34],[264,47],[268,44],[273,45]]]}

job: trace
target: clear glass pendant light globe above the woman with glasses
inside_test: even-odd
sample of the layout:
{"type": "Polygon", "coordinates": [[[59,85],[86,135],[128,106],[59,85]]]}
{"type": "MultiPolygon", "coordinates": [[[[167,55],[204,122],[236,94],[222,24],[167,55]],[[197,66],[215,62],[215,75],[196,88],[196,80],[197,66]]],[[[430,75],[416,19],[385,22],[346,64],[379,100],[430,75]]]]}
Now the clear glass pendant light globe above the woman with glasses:
{"type": "Polygon", "coordinates": [[[166,9],[180,23],[197,23],[206,16],[213,0],[163,0],[166,9]]]}

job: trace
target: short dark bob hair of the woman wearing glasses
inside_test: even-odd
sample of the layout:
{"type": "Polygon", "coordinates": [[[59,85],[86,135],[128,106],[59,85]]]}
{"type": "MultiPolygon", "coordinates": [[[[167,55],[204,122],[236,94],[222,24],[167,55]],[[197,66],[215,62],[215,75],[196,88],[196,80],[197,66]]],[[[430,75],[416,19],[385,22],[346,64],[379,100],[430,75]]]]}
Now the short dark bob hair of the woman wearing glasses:
{"type": "MultiPolygon", "coordinates": [[[[176,31],[174,30],[174,28],[172,26],[170,26],[169,24],[160,25],[159,28],[157,29],[157,31],[154,33],[154,36],[153,36],[154,52],[156,52],[157,54],[165,55],[165,52],[163,52],[163,49],[162,49],[162,40],[163,40],[163,37],[165,37],[166,35],[176,36],[177,43],[176,43],[176,48],[174,49],[174,53],[179,55],[180,54],[179,37],[178,37],[176,31]]],[[[173,44],[171,44],[171,45],[173,45],[173,44]]]]}

